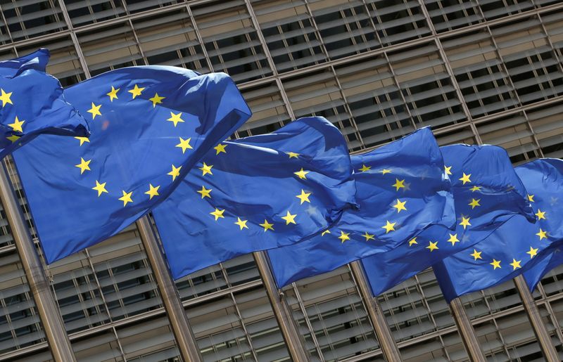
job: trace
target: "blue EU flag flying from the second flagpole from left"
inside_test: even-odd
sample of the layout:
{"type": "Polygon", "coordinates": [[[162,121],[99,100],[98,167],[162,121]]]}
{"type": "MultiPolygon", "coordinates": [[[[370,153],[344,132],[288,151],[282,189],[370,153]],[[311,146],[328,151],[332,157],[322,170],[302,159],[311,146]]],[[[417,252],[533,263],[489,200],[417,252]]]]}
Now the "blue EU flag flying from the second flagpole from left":
{"type": "Polygon", "coordinates": [[[355,204],[346,141],[321,117],[226,141],[153,210],[172,276],[290,245],[355,204]]]}

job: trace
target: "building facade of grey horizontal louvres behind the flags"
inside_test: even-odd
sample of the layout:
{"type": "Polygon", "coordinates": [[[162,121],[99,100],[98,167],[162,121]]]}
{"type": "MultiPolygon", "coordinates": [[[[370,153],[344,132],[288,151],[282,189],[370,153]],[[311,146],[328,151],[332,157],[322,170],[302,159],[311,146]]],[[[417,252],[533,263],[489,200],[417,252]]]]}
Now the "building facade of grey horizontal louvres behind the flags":
{"type": "MultiPolygon", "coordinates": [[[[0,13],[0,58],[49,48],[64,85],[129,65],[229,73],[254,112],[236,137],[322,115],[352,152],[431,126],[442,145],[497,144],[514,164],[563,157],[561,1],[1,0],[0,13]]],[[[0,216],[0,361],[49,361],[0,216]]],[[[179,361],[134,226],[45,268],[79,361],[179,361]]],[[[251,255],[177,288],[205,361],[289,360],[251,255]]],[[[348,266],[284,297],[313,361],[384,361],[348,266]]],[[[534,297],[563,359],[563,266],[534,297]]],[[[489,361],[543,359],[512,282],[462,301],[489,361]]],[[[431,270],[379,302],[405,361],[467,361],[431,270]]]]}

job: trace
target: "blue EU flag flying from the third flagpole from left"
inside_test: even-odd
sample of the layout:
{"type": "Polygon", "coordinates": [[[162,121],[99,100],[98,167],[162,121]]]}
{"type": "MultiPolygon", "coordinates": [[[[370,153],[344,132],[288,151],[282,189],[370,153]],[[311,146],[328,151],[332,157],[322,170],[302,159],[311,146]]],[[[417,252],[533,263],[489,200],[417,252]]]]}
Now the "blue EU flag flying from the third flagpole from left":
{"type": "Polygon", "coordinates": [[[356,200],[335,226],[315,238],[270,250],[277,285],[388,252],[433,224],[453,226],[453,197],[430,129],[352,156],[356,200]]]}

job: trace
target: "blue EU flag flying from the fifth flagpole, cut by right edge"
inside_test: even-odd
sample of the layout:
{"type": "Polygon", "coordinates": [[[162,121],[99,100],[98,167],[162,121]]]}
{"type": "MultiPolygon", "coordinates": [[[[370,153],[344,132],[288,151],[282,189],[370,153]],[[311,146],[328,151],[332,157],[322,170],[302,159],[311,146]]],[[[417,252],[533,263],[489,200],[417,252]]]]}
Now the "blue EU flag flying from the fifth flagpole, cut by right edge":
{"type": "Polygon", "coordinates": [[[563,161],[536,160],[515,171],[526,187],[528,200],[536,212],[536,223],[530,223],[524,216],[514,216],[480,243],[434,265],[448,302],[504,283],[526,269],[536,271],[536,262],[551,259],[543,252],[563,238],[563,205],[552,205],[552,200],[563,194],[563,161]]]}

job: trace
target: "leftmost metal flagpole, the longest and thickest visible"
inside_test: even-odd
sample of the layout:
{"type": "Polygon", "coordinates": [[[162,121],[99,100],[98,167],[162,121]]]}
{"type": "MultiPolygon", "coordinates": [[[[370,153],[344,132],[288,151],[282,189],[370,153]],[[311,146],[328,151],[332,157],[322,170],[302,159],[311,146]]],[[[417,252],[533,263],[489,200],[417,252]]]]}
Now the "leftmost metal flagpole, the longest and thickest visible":
{"type": "Polygon", "coordinates": [[[39,318],[47,337],[53,359],[57,362],[76,361],[72,345],[65,330],[65,324],[55,295],[49,286],[41,261],[37,256],[30,231],[25,224],[23,213],[8,180],[6,164],[0,167],[0,200],[4,205],[4,212],[10,225],[15,247],[18,249],[25,278],[35,300],[35,307],[39,311],[39,318]]]}

